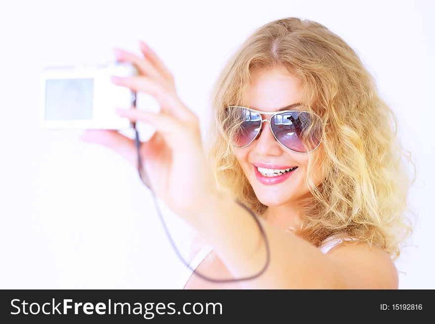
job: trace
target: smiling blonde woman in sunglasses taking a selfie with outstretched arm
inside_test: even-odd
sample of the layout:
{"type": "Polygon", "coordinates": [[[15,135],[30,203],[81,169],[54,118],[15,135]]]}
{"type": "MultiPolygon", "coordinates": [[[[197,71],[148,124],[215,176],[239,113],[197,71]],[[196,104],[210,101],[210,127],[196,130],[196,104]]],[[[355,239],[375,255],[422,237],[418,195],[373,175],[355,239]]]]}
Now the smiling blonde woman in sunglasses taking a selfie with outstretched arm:
{"type": "MultiPolygon", "coordinates": [[[[161,112],[118,113],[156,128],[143,167],[156,195],[213,246],[197,271],[242,278],[263,268],[258,224],[236,200],[259,216],[269,245],[257,278],[192,275],[185,288],[398,287],[393,260],[411,232],[405,155],[392,110],[339,36],[298,18],[257,30],[217,80],[206,149],[172,74],[140,48],[143,57],[116,51],[140,75],[113,82],[153,95],[161,112]]],[[[83,139],[135,163],[133,141],[117,132],[83,139]]]]}

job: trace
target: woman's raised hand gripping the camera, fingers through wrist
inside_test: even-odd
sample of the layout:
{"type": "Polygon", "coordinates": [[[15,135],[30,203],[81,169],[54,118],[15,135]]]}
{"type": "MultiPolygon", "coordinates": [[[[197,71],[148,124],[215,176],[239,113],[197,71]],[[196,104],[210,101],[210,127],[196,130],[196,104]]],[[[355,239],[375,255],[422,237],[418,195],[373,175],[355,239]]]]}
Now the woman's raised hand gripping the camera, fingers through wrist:
{"type": "MultiPolygon", "coordinates": [[[[115,50],[117,59],[133,63],[139,74],[112,77],[112,81],[152,95],[160,104],[160,113],[118,109],[118,114],[156,128],[149,141],[141,145],[143,169],[155,194],[176,214],[191,222],[218,195],[203,149],[199,120],[178,98],[174,77],[163,62],[145,43],[140,42],[140,49],[143,57],[115,50]]],[[[134,142],[116,131],[87,130],[81,139],[106,145],[137,166],[134,142]]]]}

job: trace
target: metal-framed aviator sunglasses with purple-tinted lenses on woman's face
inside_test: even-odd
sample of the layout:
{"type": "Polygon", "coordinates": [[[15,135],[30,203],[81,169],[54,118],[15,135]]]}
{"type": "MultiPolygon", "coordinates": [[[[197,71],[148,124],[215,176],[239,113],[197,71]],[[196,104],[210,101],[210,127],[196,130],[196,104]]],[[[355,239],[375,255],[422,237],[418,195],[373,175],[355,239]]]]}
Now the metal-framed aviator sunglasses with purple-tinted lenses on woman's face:
{"type": "MultiPolygon", "coordinates": [[[[287,108],[302,106],[294,104],[287,108]]],[[[305,110],[260,111],[241,106],[237,109],[238,122],[231,136],[231,144],[242,148],[248,146],[261,134],[263,122],[268,121],[273,136],[279,144],[296,153],[309,153],[316,149],[322,137],[322,120],[313,112],[305,110]],[[272,115],[262,119],[261,114],[272,115]]]]}

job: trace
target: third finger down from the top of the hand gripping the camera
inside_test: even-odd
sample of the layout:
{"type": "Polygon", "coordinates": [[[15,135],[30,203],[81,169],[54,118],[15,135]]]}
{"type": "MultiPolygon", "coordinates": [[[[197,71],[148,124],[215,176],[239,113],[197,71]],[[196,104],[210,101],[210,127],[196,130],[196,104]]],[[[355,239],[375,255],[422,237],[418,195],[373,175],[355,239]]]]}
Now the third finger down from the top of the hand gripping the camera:
{"type": "Polygon", "coordinates": [[[163,112],[171,113],[175,117],[186,121],[196,118],[196,115],[184,106],[176,94],[148,76],[111,76],[111,79],[113,83],[128,87],[133,91],[149,93],[160,104],[163,112]]]}

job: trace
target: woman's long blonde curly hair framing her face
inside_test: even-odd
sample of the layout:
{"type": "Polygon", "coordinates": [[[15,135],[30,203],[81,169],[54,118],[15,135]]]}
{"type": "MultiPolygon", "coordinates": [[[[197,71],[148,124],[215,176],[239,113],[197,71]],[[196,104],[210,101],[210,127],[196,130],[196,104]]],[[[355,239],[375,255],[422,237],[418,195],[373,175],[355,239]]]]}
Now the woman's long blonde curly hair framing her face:
{"type": "MultiPolygon", "coordinates": [[[[230,144],[237,111],[254,69],[284,66],[302,82],[307,109],[322,119],[321,154],[309,154],[304,219],[292,229],[316,247],[331,236],[376,244],[393,259],[412,233],[407,196],[415,180],[411,154],[397,136],[392,109],[358,55],[323,25],[299,18],[270,22],[232,55],[212,92],[211,123],[205,139],[217,187],[258,216],[266,210],[255,195],[230,144]],[[324,180],[314,185],[320,160],[324,180]]],[[[415,170],[415,167],[414,167],[415,170]]],[[[415,174],[415,172],[414,172],[415,174]]]]}

